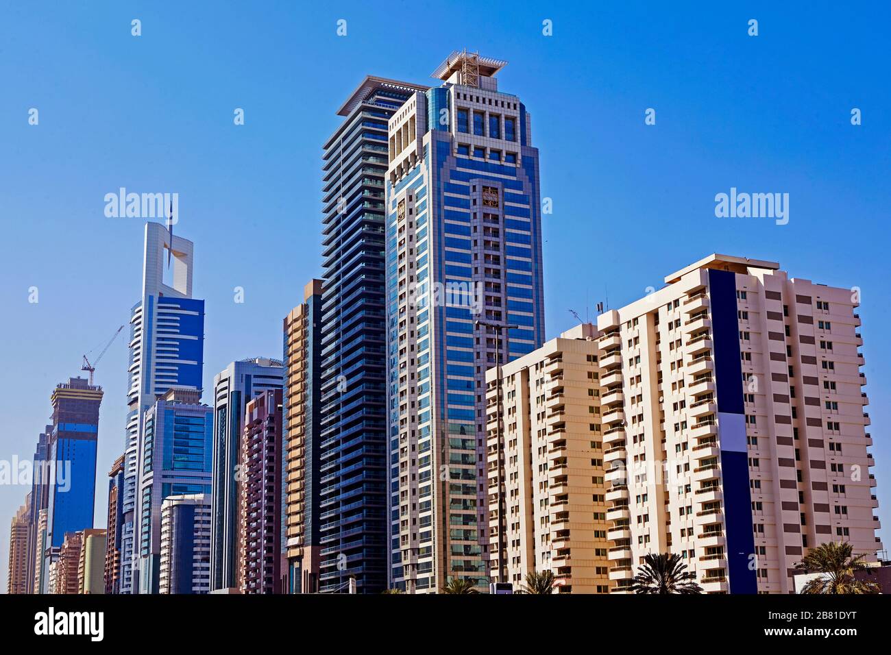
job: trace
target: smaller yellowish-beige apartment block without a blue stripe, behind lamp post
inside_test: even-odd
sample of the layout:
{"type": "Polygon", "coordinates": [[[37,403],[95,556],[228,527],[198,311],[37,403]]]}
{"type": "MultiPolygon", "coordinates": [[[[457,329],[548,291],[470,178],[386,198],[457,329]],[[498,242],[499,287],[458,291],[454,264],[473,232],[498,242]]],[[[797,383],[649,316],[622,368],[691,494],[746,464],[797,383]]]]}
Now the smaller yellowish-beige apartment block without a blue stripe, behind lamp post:
{"type": "Polygon", "coordinates": [[[597,332],[583,324],[503,365],[501,521],[498,373],[486,372],[490,576],[500,578],[501,536],[515,590],[551,570],[555,593],[609,593],[597,356],[597,332]]]}

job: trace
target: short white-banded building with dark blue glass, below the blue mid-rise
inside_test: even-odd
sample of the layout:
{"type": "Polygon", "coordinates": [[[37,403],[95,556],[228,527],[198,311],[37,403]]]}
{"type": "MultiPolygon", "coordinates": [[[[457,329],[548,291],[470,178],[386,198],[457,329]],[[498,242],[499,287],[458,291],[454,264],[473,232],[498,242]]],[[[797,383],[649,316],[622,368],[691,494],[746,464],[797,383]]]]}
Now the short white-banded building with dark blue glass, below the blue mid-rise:
{"type": "Polygon", "coordinates": [[[171,495],[161,504],[160,594],[210,591],[210,495],[171,495]]]}

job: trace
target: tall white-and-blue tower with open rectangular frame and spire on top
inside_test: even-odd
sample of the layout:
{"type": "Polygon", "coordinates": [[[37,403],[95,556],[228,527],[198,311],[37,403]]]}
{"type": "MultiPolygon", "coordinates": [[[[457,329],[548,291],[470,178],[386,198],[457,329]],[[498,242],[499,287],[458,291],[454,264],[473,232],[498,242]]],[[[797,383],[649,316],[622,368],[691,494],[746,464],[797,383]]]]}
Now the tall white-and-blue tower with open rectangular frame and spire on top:
{"type": "Polygon", "coordinates": [[[143,293],[130,315],[130,358],[127,373],[127,443],[121,512],[123,594],[135,591],[134,535],[137,460],[143,450],[143,414],[168,389],[201,389],[204,357],[204,300],[192,299],[192,242],[172,237],[165,225],[145,224],[143,293]],[[172,253],[170,284],[164,282],[172,253]]]}

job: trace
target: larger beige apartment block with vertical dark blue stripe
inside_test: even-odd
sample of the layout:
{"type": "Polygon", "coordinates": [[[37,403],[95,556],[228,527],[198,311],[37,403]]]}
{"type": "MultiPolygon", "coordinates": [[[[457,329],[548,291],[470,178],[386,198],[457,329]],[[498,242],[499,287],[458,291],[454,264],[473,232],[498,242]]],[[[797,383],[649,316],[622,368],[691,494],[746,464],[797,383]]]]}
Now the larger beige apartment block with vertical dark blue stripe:
{"type": "Polygon", "coordinates": [[[707,593],[792,591],[808,548],[874,560],[859,291],[711,255],[598,317],[615,591],[680,553],[707,593]]]}

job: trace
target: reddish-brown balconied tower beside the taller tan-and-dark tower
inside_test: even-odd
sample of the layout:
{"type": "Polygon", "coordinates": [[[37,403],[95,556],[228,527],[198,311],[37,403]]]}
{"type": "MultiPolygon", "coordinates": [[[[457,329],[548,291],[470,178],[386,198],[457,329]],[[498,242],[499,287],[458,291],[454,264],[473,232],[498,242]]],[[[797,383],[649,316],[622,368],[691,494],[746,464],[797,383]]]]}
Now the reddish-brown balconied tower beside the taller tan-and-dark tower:
{"type": "Polygon", "coordinates": [[[245,406],[241,466],[241,593],[281,594],[282,389],[245,406]]]}

